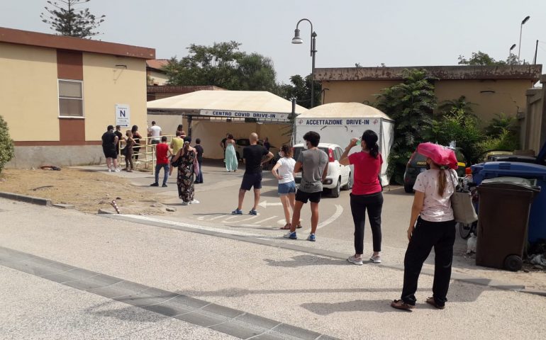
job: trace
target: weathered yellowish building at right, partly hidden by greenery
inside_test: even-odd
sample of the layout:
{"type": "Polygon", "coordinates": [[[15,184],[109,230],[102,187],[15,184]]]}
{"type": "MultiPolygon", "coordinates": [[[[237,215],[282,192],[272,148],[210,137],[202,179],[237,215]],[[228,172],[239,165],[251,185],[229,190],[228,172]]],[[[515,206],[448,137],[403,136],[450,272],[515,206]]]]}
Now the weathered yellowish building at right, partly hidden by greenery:
{"type": "Polygon", "coordinates": [[[374,103],[386,87],[400,84],[403,69],[426,69],[434,81],[438,103],[466,100],[477,104],[474,113],[486,124],[496,114],[520,117],[525,112],[525,91],[533,87],[542,65],[520,66],[432,66],[349,67],[315,69],[322,81],[324,103],[374,103]],[[328,89],[328,90],[325,90],[328,89]]]}

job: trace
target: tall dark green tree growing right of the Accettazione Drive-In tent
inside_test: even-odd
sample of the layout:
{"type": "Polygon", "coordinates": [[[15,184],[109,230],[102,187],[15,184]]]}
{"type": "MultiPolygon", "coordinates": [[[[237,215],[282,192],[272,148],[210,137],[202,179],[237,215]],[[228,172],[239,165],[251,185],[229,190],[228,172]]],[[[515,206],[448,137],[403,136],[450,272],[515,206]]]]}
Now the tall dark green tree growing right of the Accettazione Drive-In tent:
{"type": "Polygon", "coordinates": [[[395,122],[388,171],[400,184],[412,152],[430,135],[436,106],[434,79],[425,69],[404,69],[402,76],[403,83],[383,89],[376,103],[395,122]]]}

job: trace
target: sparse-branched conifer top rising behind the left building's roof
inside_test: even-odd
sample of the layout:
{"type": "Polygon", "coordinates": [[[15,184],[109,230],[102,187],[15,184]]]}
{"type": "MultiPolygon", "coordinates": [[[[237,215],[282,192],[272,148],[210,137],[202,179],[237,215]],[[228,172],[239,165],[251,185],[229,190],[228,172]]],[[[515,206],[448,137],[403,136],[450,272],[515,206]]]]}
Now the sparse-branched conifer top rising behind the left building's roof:
{"type": "Polygon", "coordinates": [[[56,30],[60,35],[69,37],[88,38],[98,35],[94,32],[104,21],[106,16],[99,17],[89,13],[89,8],[77,9],[81,4],[86,4],[91,0],[59,0],[48,1],[51,7],[45,6],[48,13],[40,13],[43,23],[50,25],[52,30],[56,30]]]}

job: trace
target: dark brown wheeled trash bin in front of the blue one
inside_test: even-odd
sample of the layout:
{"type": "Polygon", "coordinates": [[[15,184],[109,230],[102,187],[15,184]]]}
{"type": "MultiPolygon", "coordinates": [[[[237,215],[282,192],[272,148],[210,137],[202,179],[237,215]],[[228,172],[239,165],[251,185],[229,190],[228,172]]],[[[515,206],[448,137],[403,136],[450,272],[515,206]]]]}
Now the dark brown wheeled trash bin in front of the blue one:
{"type": "Polygon", "coordinates": [[[540,193],[535,185],[533,180],[497,177],[478,186],[478,266],[521,269],[530,207],[540,193]]]}

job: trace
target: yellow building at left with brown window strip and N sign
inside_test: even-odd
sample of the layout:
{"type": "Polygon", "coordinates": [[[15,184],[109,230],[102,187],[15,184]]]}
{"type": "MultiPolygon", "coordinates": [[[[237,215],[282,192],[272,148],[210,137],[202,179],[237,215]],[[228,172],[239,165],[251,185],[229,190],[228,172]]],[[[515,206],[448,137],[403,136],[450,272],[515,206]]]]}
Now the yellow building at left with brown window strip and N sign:
{"type": "Polygon", "coordinates": [[[100,164],[108,125],[146,130],[146,60],[155,50],[0,28],[0,115],[8,167],[100,164]]]}

